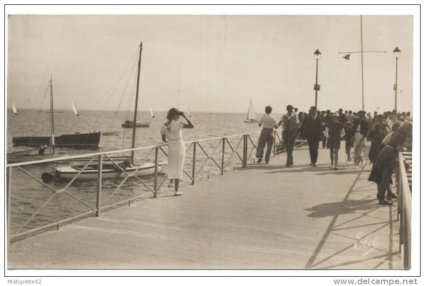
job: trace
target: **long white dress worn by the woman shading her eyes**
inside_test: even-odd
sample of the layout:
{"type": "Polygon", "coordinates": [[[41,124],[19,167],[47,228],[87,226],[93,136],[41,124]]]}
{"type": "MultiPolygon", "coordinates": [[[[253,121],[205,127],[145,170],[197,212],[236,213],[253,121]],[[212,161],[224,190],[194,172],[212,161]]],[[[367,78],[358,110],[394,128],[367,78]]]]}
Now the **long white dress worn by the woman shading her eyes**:
{"type": "Polygon", "coordinates": [[[168,140],[168,177],[169,179],[181,179],[183,165],[185,163],[186,148],[182,138],[183,123],[171,121],[167,126],[162,124],[161,135],[168,140]]]}

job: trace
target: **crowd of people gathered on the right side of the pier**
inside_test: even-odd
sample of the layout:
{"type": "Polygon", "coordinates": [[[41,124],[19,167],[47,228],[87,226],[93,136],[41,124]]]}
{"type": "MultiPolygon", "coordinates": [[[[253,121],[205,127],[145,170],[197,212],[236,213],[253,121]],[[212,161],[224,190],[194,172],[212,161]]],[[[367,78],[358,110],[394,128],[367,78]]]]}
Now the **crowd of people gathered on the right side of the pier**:
{"type": "Polygon", "coordinates": [[[345,141],[346,163],[353,161],[354,168],[361,168],[364,165],[366,140],[370,140],[369,160],[373,166],[369,181],[377,184],[379,204],[392,204],[391,199],[396,195],[391,192],[389,184],[392,184],[391,175],[396,164],[397,151],[404,150],[405,146],[411,150],[413,120],[410,112],[393,110],[383,114],[374,112],[372,116],[363,110],[343,112],[343,109],[339,109],[331,113],[330,110],[319,111],[316,106],[312,106],[307,114],[298,112],[292,105],[288,105],[286,110],[287,113],[277,123],[271,114],[272,107],[266,106],[265,114],[258,123],[263,128],[258,139],[257,163],[262,162],[266,144],[265,163],[270,162],[274,129],[282,124],[282,141],[288,167],[294,165],[293,150],[297,138],[307,141],[310,165],[313,167],[318,166],[319,143],[321,142],[323,148],[328,148],[330,166],[334,170],[338,170],[341,141],[345,141]]]}

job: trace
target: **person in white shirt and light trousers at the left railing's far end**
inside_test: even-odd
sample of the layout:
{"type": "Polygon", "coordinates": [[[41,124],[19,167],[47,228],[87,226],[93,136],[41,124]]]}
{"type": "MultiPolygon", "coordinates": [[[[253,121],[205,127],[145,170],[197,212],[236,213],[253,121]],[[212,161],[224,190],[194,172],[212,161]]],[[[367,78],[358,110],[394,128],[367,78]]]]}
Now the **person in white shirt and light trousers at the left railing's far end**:
{"type": "Polygon", "coordinates": [[[273,130],[276,125],[276,118],[271,114],[272,113],[272,107],[266,106],[266,114],[264,114],[260,121],[258,122],[258,126],[261,127],[263,125],[263,129],[261,129],[260,137],[258,138],[258,146],[257,146],[257,152],[255,154],[255,157],[258,158],[257,163],[261,163],[263,160],[263,154],[264,154],[264,147],[267,143],[267,151],[266,151],[266,164],[270,161],[270,153],[272,152],[272,145],[273,145],[273,130]]]}

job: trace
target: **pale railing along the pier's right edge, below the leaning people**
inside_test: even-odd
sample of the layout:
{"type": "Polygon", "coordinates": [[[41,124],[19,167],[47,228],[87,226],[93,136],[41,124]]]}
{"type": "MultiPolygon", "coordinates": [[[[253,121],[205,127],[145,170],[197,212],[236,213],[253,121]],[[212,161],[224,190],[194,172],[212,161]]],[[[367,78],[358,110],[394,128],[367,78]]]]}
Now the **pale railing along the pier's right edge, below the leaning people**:
{"type": "Polygon", "coordinates": [[[403,247],[403,267],[409,269],[411,266],[411,220],[412,220],[412,194],[407,180],[404,157],[398,152],[399,163],[396,171],[398,212],[400,220],[400,251],[403,247]]]}

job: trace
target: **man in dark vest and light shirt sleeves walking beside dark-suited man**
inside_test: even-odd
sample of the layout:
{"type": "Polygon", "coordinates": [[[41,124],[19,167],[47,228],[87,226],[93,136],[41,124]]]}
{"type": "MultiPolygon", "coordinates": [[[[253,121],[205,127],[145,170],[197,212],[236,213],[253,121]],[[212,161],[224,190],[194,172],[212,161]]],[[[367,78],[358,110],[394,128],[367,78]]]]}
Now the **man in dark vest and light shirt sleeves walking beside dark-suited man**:
{"type": "Polygon", "coordinates": [[[294,114],[294,106],[291,104],[286,106],[287,114],[283,115],[277,127],[283,123],[283,142],[286,148],[286,166],[294,164],[294,158],[292,157],[292,151],[294,151],[295,140],[298,135],[299,120],[294,114]]]}

